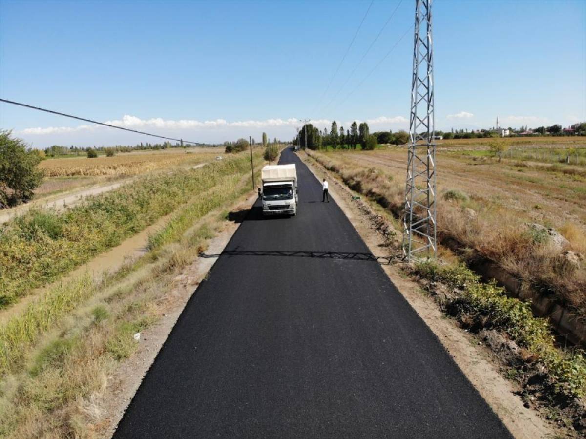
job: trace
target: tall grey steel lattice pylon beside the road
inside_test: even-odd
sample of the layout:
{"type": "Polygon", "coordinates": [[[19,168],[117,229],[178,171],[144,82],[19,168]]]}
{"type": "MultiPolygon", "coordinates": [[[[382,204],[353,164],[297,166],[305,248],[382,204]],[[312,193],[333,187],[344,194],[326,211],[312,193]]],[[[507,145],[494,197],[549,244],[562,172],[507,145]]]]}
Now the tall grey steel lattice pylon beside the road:
{"type": "Polygon", "coordinates": [[[431,2],[415,0],[410,145],[403,219],[403,255],[408,261],[435,257],[437,251],[431,2]]]}

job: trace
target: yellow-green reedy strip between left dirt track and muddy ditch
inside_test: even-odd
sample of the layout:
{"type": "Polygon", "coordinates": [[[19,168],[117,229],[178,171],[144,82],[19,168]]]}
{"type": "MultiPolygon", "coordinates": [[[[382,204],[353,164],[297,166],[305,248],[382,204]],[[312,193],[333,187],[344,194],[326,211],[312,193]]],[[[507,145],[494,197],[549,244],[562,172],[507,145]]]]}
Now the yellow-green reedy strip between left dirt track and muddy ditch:
{"type": "Polygon", "coordinates": [[[200,169],[146,176],[62,213],[34,210],[6,223],[0,229],[0,308],[117,246],[194,193],[243,174],[248,166],[250,158],[241,154],[200,169]]]}

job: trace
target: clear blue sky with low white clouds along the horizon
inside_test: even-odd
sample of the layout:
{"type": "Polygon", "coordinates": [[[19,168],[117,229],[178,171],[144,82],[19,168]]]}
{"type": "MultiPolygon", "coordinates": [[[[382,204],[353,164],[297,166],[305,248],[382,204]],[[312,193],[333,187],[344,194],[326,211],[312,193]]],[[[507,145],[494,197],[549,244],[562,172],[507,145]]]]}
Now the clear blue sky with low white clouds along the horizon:
{"type": "MultiPolygon", "coordinates": [[[[295,118],[407,129],[413,0],[373,3],[321,99],[369,4],[0,0],[0,96],[206,142],[289,139],[295,118]]],[[[437,129],[586,120],[586,2],[433,7],[437,129]]],[[[0,104],[0,127],[36,147],[156,141],[80,125],[0,104]]]]}

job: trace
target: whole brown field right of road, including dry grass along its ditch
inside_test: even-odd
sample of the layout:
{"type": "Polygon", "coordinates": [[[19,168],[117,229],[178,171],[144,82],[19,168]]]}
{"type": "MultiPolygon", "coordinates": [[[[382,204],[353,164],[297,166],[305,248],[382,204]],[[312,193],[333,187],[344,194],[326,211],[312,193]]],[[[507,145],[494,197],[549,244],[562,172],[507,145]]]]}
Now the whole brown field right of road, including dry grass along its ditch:
{"type": "MultiPolygon", "coordinates": [[[[478,140],[478,139],[474,139],[478,140]]],[[[481,139],[483,140],[483,139],[481,139]]],[[[466,151],[437,153],[438,232],[496,261],[540,291],[586,316],[586,270],[565,266],[560,254],[586,254],[586,169],[539,164],[466,151]],[[551,227],[567,239],[554,247],[527,224],[551,227]]],[[[407,152],[403,148],[309,154],[355,190],[403,206],[407,152]]]]}

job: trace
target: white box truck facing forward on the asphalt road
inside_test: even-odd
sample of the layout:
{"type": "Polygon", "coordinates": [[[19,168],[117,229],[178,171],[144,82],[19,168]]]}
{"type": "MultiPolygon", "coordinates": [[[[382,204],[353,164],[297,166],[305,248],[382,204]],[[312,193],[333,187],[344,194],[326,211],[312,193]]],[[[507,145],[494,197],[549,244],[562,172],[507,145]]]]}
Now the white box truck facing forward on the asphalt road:
{"type": "Polygon", "coordinates": [[[295,165],[266,165],[261,171],[263,215],[297,213],[297,170],[295,165]]]}

